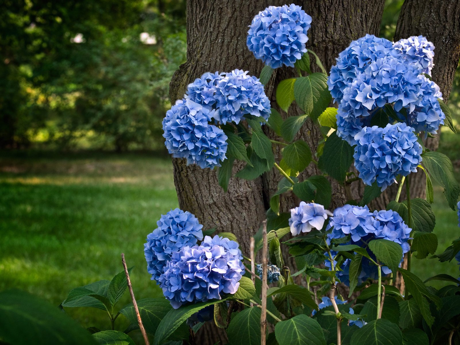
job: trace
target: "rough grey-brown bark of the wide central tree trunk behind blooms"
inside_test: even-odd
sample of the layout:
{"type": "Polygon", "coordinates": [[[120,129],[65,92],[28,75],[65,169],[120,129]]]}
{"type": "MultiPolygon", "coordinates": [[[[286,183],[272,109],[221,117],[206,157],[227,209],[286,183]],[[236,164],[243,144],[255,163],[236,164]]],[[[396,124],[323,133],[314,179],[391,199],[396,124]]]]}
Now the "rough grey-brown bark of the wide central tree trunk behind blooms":
{"type": "MultiPolygon", "coordinates": [[[[378,33],[384,0],[310,0],[298,2],[313,18],[309,31],[311,47],[329,68],[334,57],[366,33],[378,33]]],[[[186,86],[207,71],[249,70],[259,75],[262,63],[256,60],[246,47],[247,26],[255,14],[266,6],[283,5],[275,0],[189,0],[187,1],[187,62],[181,65],[170,84],[172,103],[183,97],[186,86]]],[[[291,71],[281,69],[276,81],[285,78],[291,71]]],[[[270,91],[273,88],[268,88],[270,91]]],[[[270,92],[269,92],[270,93],[270,92]]],[[[271,95],[269,95],[270,97],[271,95]]],[[[311,123],[302,128],[302,138],[315,147],[318,133],[311,123]]],[[[205,229],[218,227],[219,231],[230,231],[238,236],[243,251],[249,249],[249,238],[258,229],[264,218],[266,200],[273,186],[271,174],[245,181],[232,178],[228,193],[217,184],[216,172],[187,167],[183,160],[174,159],[174,183],[182,209],[194,213],[205,229]]],[[[234,167],[234,172],[241,169],[234,167]]],[[[315,174],[316,170],[306,173],[315,174]]],[[[276,176],[276,175],[275,175],[276,176]]],[[[303,176],[305,178],[305,176],[303,176]]],[[[276,182],[275,182],[276,184],[276,182]]],[[[345,201],[342,190],[334,185],[335,206],[345,201]]],[[[292,207],[285,203],[284,208],[292,207]]],[[[225,334],[220,329],[203,327],[199,344],[225,343],[225,334]]]]}

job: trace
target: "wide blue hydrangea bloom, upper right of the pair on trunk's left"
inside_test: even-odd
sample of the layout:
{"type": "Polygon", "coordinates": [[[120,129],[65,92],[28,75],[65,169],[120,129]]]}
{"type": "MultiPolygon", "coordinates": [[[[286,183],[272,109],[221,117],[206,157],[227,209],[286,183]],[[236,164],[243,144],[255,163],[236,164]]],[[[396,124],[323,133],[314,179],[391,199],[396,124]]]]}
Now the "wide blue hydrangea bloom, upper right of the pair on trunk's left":
{"type": "Polygon", "coordinates": [[[213,118],[220,123],[238,124],[244,115],[270,117],[270,100],[258,78],[248,71],[205,73],[189,84],[187,97],[207,109],[215,109],[213,118]]]}

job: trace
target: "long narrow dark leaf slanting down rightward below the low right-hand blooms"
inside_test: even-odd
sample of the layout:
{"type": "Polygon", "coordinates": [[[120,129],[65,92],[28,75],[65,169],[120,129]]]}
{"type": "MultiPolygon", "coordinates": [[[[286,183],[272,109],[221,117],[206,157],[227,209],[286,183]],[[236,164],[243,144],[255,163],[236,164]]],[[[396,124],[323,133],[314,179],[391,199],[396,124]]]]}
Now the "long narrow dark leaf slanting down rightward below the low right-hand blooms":
{"type": "Polygon", "coordinates": [[[428,326],[431,326],[434,322],[434,317],[431,315],[430,305],[427,298],[431,299],[438,306],[441,306],[441,300],[439,297],[432,294],[426,288],[425,284],[420,280],[420,278],[414,275],[414,273],[402,268],[400,268],[399,271],[403,275],[404,283],[406,284],[408,292],[412,293],[414,296],[414,299],[420,308],[420,313],[425,319],[425,322],[428,324],[428,326]]]}

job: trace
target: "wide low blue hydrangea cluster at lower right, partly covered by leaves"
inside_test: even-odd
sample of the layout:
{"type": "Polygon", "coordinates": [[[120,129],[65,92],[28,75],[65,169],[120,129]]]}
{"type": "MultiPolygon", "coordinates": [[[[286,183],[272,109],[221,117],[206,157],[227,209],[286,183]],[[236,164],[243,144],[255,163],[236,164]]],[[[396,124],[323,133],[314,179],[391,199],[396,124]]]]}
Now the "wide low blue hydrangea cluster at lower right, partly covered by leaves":
{"type": "MultiPolygon", "coordinates": [[[[403,249],[403,254],[407,253],[410,249],[408,240],[410,240],[412,229],[404,223],[397,212],[392,210],[370,213],[367,206],[345,205],[334,210],[334,216],[331,217],[327,230],[331,228],[333,230],[328,233],[328,243],[334,238],[343,238],[351,234],[351,241],[345,243],[345,245],[356,244],[365,247],[372,240],[385,239],[398,243],[403,249]]],[[[374,254],[369,249],[368,253],[372,259],[376,260],[374,254]]],[[[333,256],[336,254],[336,252],[331,252],[333,256]]],[[[403,256],[401,257],[401,262],[403,261],[403,256]]],[[[345,259],[339,266],[340,271],[336,273],[337,278],[345,285],[350,284],[350,263],[350,259],[345,259]]],[[[337,262],[334,260],[334,265],[336,264],[337,262]]],[[[329,260],[325,260],[324,265],[329,270],[332,270],[329,260]]],[[[386,266],[382,266],[382,271],[385,275],[391,273],[391,270],[386,266]]],[[[362,268],[358,275],[358,283],[361,284],[368,279],[377,279],[377,276],[377,266],[372,264],[369,259],[362,258],[362,268]]]]}

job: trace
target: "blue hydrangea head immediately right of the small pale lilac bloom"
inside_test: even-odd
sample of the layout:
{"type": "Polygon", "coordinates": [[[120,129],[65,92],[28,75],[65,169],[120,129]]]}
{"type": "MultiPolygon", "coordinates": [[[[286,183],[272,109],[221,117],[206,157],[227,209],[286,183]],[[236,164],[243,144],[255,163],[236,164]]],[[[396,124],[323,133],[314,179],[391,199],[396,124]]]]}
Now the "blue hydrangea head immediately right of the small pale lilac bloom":
{"type": "Polygon", "coordinates": [[[351,235],[351,240],[358,242],[368,234],[375,234],[379,224],[367,206],[344,205],[334,210],[326,230],[333,228],[328,240],[351,235]]]}

